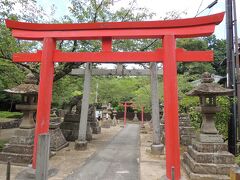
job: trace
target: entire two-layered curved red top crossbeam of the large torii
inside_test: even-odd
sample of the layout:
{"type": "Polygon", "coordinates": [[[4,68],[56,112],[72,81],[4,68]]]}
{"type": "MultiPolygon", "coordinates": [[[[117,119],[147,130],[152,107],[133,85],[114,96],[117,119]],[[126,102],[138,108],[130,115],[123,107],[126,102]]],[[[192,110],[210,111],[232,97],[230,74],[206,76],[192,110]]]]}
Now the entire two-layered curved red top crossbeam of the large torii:
{"type": "Polygon", "coordinates": [[[7,20],[7,27],[13,29],[13,36],[19,39],[42,40],[54,37],[58,40],[94,40],[103,38],[133,39],[161,38],[175,35],[176,38],[211,35],[216,24],[222,21],[224,13],[211,16],[145,22],[97,22],[81,24],[35,24],[7,20]],[[71,33],[70,33],[71,32],[71,33]]]}

